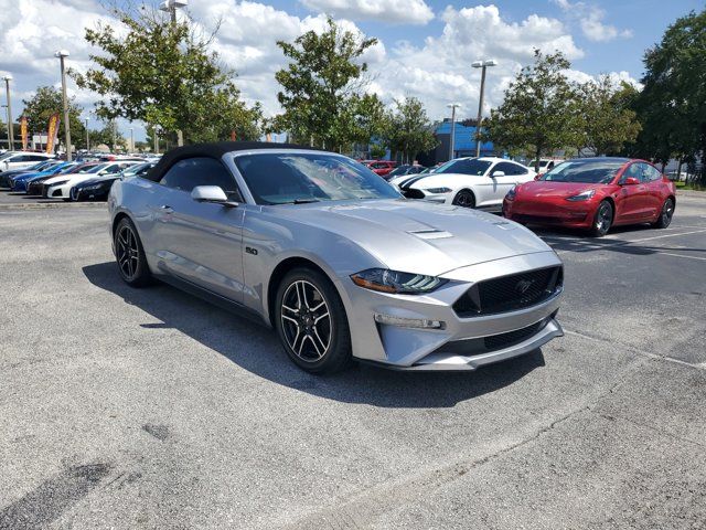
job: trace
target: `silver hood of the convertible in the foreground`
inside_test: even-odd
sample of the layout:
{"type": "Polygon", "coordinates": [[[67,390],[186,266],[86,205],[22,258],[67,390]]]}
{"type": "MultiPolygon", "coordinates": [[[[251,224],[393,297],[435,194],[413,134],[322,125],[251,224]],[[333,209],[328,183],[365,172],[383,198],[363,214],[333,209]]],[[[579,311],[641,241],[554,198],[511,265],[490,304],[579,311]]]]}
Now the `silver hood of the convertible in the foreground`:
{"type": "Polygon", "coordinates": [[[459,267],[552,248],[496,215],[425,201],[375,200],[264,206],[357,244],[391,269],[440,275],[459,267]]]}

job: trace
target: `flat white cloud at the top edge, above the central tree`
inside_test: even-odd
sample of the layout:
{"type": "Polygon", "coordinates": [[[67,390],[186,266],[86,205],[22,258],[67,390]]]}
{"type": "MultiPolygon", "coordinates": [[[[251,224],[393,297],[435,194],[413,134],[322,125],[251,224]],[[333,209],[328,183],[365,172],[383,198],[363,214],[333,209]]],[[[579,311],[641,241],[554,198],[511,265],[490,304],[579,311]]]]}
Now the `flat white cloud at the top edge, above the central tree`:
{"type": "Polygon", "coordinates": [[[379,20],[391,24],[426,24],[434,11],[424,0],[301,0],[307,8],[351,20],[379,20]]]}

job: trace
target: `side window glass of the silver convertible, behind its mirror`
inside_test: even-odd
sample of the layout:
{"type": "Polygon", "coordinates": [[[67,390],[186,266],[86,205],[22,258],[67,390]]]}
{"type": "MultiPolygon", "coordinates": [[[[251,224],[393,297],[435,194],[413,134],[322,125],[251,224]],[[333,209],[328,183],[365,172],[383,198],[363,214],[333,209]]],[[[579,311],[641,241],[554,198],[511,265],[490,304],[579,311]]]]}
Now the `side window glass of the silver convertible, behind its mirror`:
{"type": "Polygon", "coordinates": [[[196,186],[217,186],[232,199],[243,200],[231,172],[213,158],[180,160],[159,183],[186,193],[191,193],[196,186]]]}

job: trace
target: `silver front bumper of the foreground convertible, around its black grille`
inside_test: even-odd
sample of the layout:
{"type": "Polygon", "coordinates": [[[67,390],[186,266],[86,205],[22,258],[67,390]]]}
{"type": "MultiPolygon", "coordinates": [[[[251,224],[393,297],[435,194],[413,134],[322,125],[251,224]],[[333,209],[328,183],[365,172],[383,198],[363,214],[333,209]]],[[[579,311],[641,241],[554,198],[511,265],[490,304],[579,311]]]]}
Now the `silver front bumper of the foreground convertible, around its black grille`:
{"type": "Polygon", "coordinates": [[[474,370],[533,351],[564,335],[554,318],[560,293],[535,306],[495,315],[462,318],[452,306],[475,282],[560,263],[548,251],[461,267],[441,275],[450,282],[429,295],[376,293],[341,278],[353,356],[400,370],[474,370]],[[375,315],[439,321],[443,326],[430,329],[378,324],[375,315]],[[527,329],[531,332],[523,335],[527,329]],[[518,333],[517,340],[503,340],[513,333],[518,333]]]}

